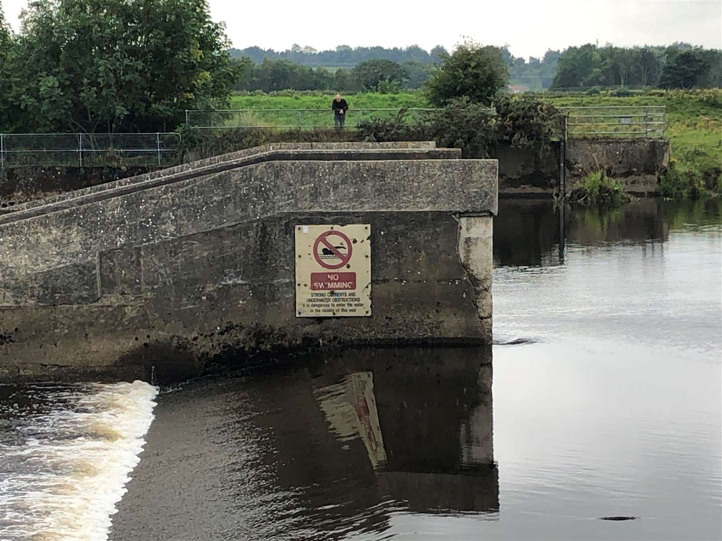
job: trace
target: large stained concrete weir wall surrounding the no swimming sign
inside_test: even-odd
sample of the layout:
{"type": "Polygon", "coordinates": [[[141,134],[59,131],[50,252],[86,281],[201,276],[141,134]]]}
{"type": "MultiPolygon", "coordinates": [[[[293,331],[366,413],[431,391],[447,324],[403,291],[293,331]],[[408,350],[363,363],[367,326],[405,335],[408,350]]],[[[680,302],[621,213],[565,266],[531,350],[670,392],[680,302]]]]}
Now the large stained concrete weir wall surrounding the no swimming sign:
{"type": "Polygon", "coordinates": [[[497,162],[432,143],[267,145],[1,209],[0,382],[490,343],[496,212],[497,162]],[[370,224],[370,316],[297,317],[299,224],[370,224]]]}

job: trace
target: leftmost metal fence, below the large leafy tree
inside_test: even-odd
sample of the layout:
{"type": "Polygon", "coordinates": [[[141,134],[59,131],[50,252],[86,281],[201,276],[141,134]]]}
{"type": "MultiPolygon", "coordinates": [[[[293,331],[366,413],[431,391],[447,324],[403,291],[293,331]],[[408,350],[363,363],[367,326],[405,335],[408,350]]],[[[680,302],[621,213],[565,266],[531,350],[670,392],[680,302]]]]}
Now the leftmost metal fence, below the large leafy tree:
{"type": "Polygon", "coordinates": [[[180,133],[0,133],[0,168],[163,165],[180,142],[180,133]]]}

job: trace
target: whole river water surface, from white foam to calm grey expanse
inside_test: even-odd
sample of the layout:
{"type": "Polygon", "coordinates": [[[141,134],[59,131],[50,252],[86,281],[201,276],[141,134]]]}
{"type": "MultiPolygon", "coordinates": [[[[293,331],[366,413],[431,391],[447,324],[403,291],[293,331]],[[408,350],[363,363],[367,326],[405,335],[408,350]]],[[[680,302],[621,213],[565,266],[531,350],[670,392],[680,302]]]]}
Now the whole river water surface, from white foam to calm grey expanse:
{"type": "Polygon", "coordinates": [[[721,539],[720,206],[501,201],[494,295],[490,348],[0,386],[0,539],[721,539]]]}

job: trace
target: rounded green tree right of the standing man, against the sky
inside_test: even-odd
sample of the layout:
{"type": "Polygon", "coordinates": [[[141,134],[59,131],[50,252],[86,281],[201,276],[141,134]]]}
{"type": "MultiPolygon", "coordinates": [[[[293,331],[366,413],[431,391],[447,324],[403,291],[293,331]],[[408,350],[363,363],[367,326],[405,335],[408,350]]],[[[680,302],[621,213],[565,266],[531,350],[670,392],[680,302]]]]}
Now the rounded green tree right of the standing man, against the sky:
{"type": "Polygon", "coordinates": [[[495,94],[506,87],[508,79],[499,48],[466,42],[433,69],[426,82],[426,92],[430,102],[437,106],[456,97],[490,105],[495,94]]]}

